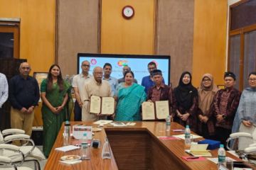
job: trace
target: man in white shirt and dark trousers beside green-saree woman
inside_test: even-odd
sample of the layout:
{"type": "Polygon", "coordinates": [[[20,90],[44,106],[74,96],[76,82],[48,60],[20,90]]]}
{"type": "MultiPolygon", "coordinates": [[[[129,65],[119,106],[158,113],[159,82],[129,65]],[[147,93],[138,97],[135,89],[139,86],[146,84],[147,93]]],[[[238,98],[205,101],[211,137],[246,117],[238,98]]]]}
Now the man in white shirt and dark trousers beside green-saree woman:
{"type": "Polygon", "coordinates": [[[82,73],[75,75],[72,81],[72,86],[75,93],[75,108],[74,108],[74,120],[82,120],[82,105],[83,99],[82,94],[84,94],[85,83],[90,80],[92,75],[89,74],[90,62],[87,60],[83,61],[81,64],[82,73]]]}

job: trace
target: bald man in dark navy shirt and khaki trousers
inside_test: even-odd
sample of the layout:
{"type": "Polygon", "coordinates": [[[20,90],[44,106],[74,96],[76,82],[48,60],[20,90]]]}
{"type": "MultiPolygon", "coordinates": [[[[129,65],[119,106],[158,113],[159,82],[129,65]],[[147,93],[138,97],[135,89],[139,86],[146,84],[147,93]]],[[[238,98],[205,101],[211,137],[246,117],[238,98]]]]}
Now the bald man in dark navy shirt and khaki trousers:
{"type": "MultiPolygon", "coordinates": [[[[20,74],[9,82],[9,100],[11,102],[11,128],[25,130],[26,135],[32,133],[34,108],[38,106],[39,86],[35,78],[30,77],[31,67],[27,62],[21,63],[20,74]]],[[[15,145],[21,145],[14,142],[15,145]]]]}

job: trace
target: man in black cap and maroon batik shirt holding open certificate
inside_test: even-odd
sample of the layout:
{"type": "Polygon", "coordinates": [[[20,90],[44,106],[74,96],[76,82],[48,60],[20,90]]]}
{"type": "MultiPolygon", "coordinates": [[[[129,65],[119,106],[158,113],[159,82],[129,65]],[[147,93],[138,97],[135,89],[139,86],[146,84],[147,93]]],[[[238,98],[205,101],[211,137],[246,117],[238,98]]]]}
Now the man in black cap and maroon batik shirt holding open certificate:
{"type": "MultiPolygon", "coordinates": [[[[144,103],[144,106],[149,105],[149,107],[143,107],[146,111],[142,111],[142,117],[144,120],[154,120],[154,119],[165,119],[168,115],[171,115],[171,120],[174,118],[176,111],[176,99],[174,97],[174,91],[171,86],[167,86],[163,83],[163,77],[160,69],[155,69],[151,72],[154,86],[149,88],[147,94],[147,101],[155,103],[156,116],[152,115],[154,111],[149,112],[150,103],[144,103]]],[[[151,107],[153,109],[153,107],[151,107]]]]}

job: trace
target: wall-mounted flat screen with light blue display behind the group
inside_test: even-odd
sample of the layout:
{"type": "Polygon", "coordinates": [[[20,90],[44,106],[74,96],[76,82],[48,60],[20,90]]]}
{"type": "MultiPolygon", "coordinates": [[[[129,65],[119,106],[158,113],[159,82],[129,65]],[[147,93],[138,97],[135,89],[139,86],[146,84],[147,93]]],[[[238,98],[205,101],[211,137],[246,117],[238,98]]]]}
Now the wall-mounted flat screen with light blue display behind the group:
{"type": "Polygon", "coordinates": [[[155,62],[164,77],[165,84],[169,84],[171,60],[169,55],[103,55],[78,53],[78,74],[82,72],[81,64],[87,60],[90,62],[90,74],[95,67],[103,67],[106,62],[112,64],[112,77],[123,77],[122,68],[126,65],[131,67],[134,78],[138,84],[142,84],[142,78],[149,76],[147,64],[155,62]]]}

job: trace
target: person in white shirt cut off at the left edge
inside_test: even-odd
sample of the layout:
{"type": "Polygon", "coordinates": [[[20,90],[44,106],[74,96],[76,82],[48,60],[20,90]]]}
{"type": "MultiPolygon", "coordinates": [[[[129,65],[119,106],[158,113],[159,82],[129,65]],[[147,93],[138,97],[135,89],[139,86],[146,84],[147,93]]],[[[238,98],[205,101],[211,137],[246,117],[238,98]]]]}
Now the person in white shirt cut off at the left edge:
{"type": "Polygon", "coordinates": [[[6,76],[0,73],[0,109],[8,98],[8,83],[6,76]]]}

